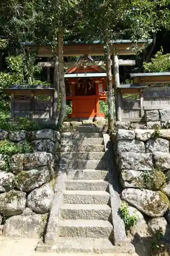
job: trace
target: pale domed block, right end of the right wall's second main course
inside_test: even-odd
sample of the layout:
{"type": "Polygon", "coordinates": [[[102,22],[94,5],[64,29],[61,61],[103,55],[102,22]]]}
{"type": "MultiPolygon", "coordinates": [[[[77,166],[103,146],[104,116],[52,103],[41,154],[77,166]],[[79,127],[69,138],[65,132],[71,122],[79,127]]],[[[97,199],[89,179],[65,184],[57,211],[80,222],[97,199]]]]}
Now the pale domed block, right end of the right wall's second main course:
{"type": "Polygon", "coordinates": [[[145,144],[146,153],[159,151],[169,153],[169,141],[161,138],[150,139],[145,144]]]}

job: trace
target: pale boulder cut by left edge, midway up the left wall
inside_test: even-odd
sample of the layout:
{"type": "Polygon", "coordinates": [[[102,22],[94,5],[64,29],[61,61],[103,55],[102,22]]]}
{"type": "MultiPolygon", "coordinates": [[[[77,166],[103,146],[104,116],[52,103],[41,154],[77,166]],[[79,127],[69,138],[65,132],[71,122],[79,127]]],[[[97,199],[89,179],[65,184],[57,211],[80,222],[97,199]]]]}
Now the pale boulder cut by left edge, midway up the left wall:
{"type": "Polygon", "coordinates": [[[0,171],[0,193],[9,191],[13,187],[14,175],[0,171]]]}

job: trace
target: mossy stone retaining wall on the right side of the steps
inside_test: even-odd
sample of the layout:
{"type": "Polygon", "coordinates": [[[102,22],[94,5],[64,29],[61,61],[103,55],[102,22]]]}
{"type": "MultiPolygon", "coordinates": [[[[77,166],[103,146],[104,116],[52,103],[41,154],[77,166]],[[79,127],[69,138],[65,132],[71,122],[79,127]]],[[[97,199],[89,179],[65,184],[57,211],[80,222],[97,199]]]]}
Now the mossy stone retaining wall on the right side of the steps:
{"type": "Polygon", "coordinates": [[[116,122],[111,140],[122,185],[120,197],[129,204],[130,215],[137,216],[131,234],[142,240],[161,230],[163,239],[169,240],[170,130],[148,130],[144,124],[116,122]]]}

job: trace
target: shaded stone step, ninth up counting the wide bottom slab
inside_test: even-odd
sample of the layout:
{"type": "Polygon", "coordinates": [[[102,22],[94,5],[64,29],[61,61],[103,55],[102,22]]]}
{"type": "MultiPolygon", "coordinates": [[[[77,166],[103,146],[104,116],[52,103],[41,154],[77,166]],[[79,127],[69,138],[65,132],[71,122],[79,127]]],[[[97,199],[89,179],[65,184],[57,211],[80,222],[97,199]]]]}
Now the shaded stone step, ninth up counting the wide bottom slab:
{"type": "Polygon", "coordinates": [[[104,152],[104,145],[61,145],[64,152],[104,152]]]}

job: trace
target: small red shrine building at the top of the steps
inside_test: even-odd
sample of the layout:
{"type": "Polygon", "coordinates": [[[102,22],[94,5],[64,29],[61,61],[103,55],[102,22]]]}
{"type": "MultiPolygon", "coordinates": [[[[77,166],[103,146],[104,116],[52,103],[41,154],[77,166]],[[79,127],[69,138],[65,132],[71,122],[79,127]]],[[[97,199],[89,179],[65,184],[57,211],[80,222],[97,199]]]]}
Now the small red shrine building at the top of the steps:
{"type": "Polygon", "coordinates": [[[66,100],[72,101],[71,118],[105,117],[100,112],[100,101],[106,101],[106,70],[92,66],[90,56],[82,56],[78,63],[65,73],[66,100]],[[90,65],[91,62],[91,65],[90,65]]]}

